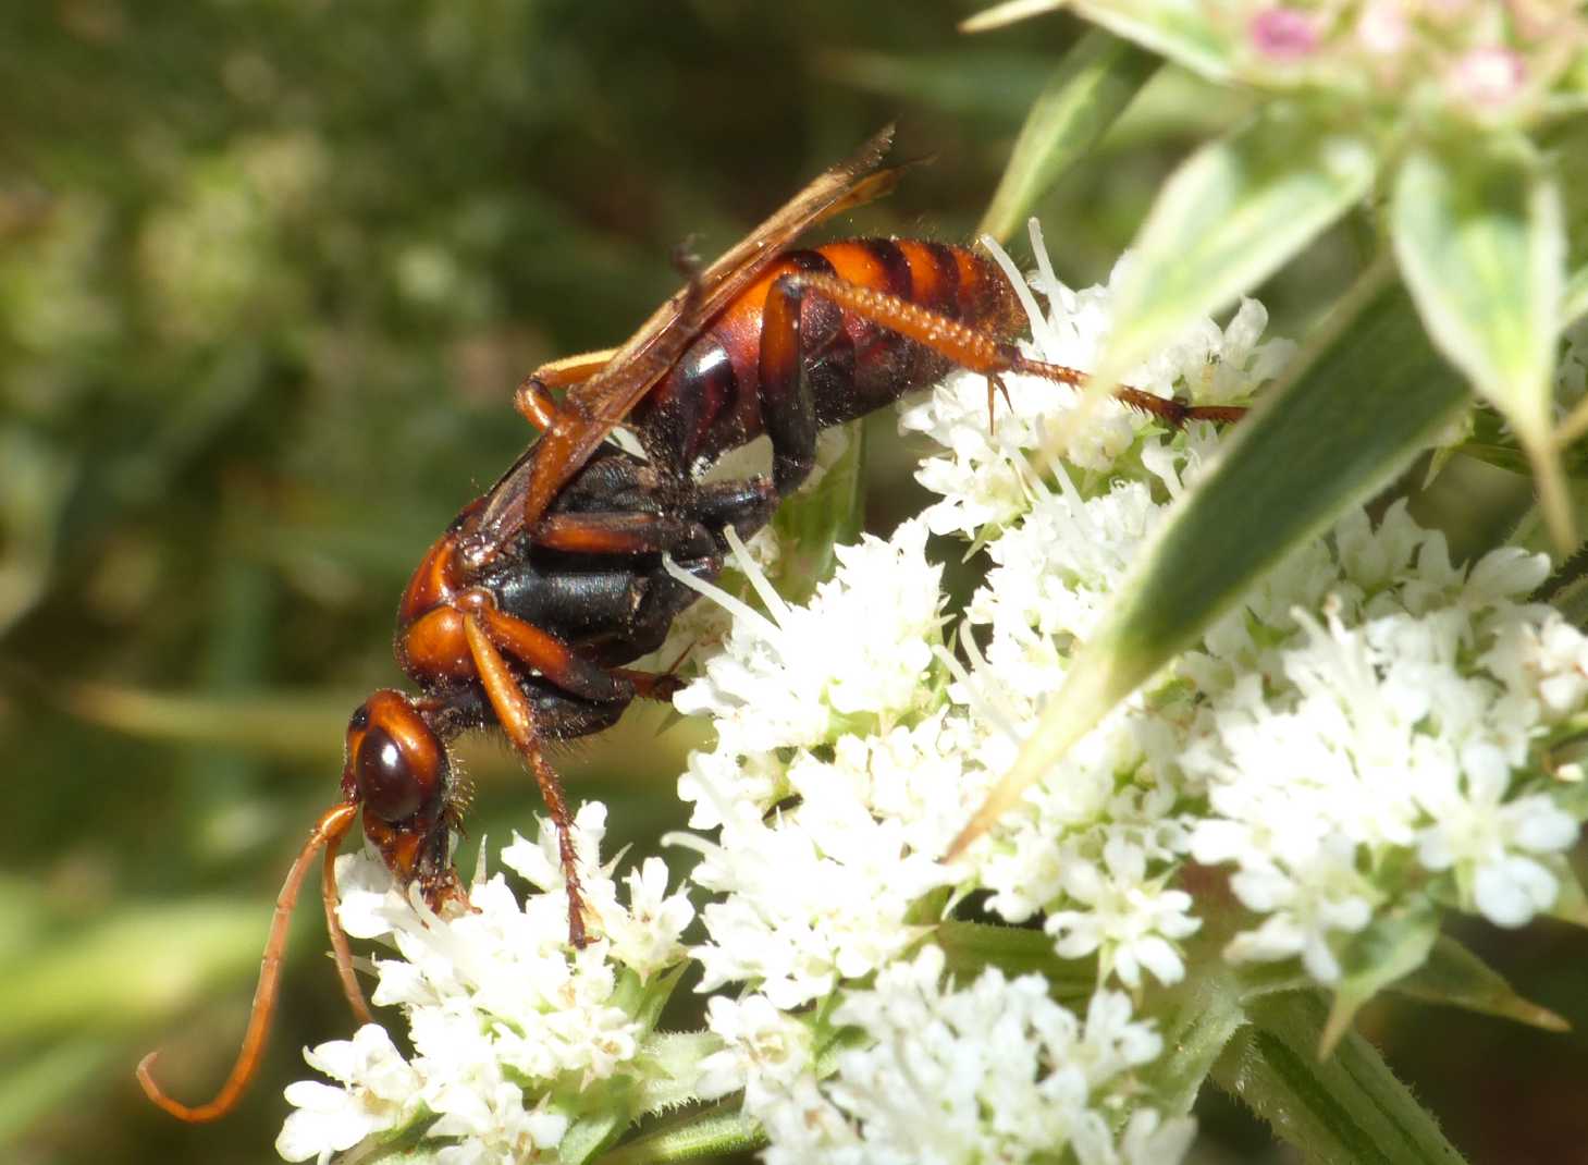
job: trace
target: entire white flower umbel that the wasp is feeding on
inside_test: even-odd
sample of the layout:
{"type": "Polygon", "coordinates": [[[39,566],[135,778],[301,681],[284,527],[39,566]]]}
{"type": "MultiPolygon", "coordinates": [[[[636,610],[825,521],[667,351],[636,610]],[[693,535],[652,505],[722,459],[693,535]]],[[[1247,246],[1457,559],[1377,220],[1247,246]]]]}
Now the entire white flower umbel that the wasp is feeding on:
{"type": "MultiPolygon", "coordinates": [[[[1062,286],[1037,243],[1031,353],[1088,367],[1110,289],[1062,286]]],[[[1264,324],[1245,300],[1129,383],[1243,402],[1289,353],[1264,324]]],[[[726,634],[676,698],[715,725],[680,780],[689,833],[669,841],[699,858],[681,885],[654,857],[602,865],[599,804],[578,814],[600,936],[583,950],[546,823],[500,855],[534,890],[481,874],[454,920],[341,860],[343,925],[392,950],[373,1000],[411,1052],[376,1025],[308,1052],[332,1082],[287,1090],[286,1159],[375,1138],[583,1160],[715,1101],[769,1162],[1177,1162],[1197,1081],[1172,1079],[1161,1006],[1188,976],[1288,960],[1334,987],[1372,971],[1363,939],[1388,919],[1517,927],[1556,904],[1583,809],[1542,752],[1588,704],[1588,641],[1528,601],[1542,558],[1453,564],[1404,505],[1286,559],[943,861],[1228,439],[1007,389],[991,429],[972,375],[904,408],[939,501],[840,547],[810,602],[765,583],[764,537],[738,555],[759,609],[708,588],[697,610],[726,634]],[[939,563],[967,540],[986,572],[950,609],[939,563]],[[1037,925],[1040,970],[1000,970],[999,942],[1037,925]],[[705,1025],[662,1031],[691,966],[705,1025]]]]}

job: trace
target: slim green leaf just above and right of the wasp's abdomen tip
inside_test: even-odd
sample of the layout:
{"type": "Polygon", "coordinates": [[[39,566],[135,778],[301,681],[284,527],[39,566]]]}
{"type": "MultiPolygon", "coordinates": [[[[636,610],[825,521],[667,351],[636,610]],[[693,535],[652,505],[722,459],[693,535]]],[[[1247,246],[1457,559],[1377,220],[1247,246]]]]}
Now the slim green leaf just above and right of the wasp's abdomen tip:
{"type": "Polygon", "coordinates": [[[1158,68],[1150,52],[1088,32],[1026,113],[981,230],[1007,240],[1048,188],[1086,156],[1158,68]]]}

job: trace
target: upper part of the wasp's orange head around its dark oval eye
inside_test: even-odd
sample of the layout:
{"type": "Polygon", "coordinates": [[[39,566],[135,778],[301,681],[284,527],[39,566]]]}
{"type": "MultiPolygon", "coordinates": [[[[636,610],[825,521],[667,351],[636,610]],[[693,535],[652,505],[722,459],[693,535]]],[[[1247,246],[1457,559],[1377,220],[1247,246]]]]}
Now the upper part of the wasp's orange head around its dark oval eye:
{"type": "Polygon", "coordinates": [[[400,691],[376,691],[348,722],[341,790],[364,804],[365,819],[392,825],[440,809],[446,749],[400,691]]]}

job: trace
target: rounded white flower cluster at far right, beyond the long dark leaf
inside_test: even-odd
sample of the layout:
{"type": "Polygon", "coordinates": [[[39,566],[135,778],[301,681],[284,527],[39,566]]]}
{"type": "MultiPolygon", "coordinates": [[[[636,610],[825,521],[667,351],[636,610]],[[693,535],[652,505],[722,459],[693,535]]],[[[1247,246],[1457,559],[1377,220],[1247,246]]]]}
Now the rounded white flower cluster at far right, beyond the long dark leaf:
{"type": "Polygon", "coordinates": [[[1301,955],[1334,982],[1345,938],[1409,895],[1502,927],[1555,903],[1577,822],[1532,749],[1583,709],[1588,639],[1526,601],[1547,569],[1520,550],[1455,567],[1397,502],[1377,529],[1350,515],[1183,660],[1207,693],[1181,755],[1208,801],[1191,853],[1234,865],[1266,915],[1231,957],[1301,955]]]}

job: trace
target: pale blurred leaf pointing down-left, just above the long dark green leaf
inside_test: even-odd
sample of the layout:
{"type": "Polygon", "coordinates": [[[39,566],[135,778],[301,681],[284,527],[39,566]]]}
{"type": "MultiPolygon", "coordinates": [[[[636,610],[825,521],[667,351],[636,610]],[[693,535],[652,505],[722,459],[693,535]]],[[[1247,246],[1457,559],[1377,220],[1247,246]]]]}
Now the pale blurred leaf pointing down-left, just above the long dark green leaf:
{"type": "Polygon", "coordinates": [[[1366,137],[1283,103],[1193,154],[1132,245],[1094,383],[1121,380],[1255,288],[1361,200],[1374,172],[1366,137]]]}

